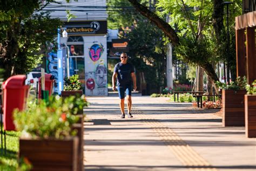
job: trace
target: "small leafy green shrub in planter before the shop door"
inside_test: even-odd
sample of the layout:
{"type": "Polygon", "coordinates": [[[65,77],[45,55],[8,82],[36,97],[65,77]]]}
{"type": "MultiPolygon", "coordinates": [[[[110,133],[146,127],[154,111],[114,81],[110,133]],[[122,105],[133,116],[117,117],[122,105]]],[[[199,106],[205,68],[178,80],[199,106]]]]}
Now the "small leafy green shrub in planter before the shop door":
{"type": "Polygon", "coordinates": [[[78,75],[72,75],[64,79],[64,88],[62,91],[62,97],[76,96],[77,94],[83,95],[82,83],[79,81],[78,75]]]}

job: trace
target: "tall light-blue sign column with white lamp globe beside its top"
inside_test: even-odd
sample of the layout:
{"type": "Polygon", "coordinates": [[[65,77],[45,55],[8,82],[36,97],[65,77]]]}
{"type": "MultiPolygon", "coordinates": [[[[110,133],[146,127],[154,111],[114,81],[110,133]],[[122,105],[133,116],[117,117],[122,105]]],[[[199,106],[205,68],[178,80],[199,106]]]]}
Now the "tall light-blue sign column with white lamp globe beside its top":
{"type": "MultiPolygon", "coordinates": [[[[64,30],[62,33],[63,37],[68,37],[68,33],[64,30]]],[[[63,90],[63,49],[60,48],[60,28],[58,28],[58,94],[60,95],[63,90]]]]}

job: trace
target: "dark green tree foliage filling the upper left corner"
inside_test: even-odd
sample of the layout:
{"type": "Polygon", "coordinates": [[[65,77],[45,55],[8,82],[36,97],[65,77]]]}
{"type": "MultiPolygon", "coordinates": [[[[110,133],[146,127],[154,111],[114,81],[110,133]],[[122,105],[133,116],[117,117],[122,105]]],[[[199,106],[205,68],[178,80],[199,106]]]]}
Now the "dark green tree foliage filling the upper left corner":
{"type": "Polygon", "coordinates": [[[1,1],[0,67],[4,68],[5,79],[35,68],[41,61],[42,47],[53,42],[61,22],[51,19],[48,12],[40,12],[50,2],[1,1]]]}

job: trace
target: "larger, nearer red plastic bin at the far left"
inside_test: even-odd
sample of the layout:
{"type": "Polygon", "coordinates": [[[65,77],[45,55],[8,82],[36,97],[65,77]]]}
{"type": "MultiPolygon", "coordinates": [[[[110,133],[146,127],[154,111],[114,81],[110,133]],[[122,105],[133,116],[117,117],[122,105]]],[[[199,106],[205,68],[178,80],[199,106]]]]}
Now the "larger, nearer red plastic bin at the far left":
{"type": "Polygon", "coordinates": [[[15,131],[12,112],[14,109],[24,110],[26,98],[29,94],[29,86],[25,85],[26,75],[15,75],[9,77],[3,87],[3,111],[4,130],[15,131]]]}

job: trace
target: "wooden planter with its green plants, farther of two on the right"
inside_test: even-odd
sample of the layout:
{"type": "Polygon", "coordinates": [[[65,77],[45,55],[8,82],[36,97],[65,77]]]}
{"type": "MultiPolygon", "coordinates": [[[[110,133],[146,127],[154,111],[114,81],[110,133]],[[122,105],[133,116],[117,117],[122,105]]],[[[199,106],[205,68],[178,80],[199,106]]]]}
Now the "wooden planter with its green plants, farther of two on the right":
{"type": "Polygon", "coordinates": [[[230,84],[217,82],[222,89],[223,126],[245,126],[246,77],[237,77],[230,84]]]}

